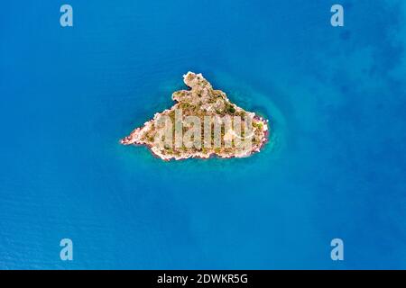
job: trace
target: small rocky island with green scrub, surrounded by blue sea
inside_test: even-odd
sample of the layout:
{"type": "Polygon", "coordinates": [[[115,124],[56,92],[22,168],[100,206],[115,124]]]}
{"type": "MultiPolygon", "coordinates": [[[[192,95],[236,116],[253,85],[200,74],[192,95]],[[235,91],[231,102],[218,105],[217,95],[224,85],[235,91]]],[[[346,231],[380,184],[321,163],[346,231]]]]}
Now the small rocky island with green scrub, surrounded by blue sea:
{"type": "Polygon", "coordinates": [[[146,145],[163,160],[189,157],[248,157],[268,138],[268,121],[231,103],[201,74],[188,72],[190,90],[172,94],[170,109],[121,139],[124,145],[146,145]]]}

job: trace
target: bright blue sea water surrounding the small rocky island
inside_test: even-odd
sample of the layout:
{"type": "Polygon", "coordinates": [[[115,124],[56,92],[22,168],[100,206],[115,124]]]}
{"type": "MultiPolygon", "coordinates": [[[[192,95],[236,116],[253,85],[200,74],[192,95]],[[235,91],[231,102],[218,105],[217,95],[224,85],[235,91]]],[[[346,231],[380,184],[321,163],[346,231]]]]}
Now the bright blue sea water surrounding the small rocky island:
{"type": "Polygon", "coordinates": [[[61,4],[1,5],[1,269],[406,268],[405,1],[61,4]],[[261,153],[119,145],[189,70],[270,119],[261,153]]]}

